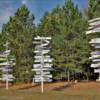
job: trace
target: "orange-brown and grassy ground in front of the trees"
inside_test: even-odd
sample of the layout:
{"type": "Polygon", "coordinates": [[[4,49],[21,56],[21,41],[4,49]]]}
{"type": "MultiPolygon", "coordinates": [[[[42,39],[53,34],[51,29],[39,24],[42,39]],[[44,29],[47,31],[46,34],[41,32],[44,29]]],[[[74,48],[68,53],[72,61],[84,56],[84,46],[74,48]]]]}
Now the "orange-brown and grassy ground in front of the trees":
{"type": "Polygon", "coordinates": [[[78,83],[75,86],[65,86],[66,83],[45,85],[45,92],[39,92],[40,87],[29,89],[0,89],[0,100],[100,100],[100,83],[78,83]]]}

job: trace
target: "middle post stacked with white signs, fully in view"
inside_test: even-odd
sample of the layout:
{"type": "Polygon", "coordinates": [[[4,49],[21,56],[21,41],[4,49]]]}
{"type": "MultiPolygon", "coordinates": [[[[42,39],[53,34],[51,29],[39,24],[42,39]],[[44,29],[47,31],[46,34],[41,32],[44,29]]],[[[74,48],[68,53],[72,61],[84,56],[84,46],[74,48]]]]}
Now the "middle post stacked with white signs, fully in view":
{"type": "Polygon", "coordinates": [[[36,75],[33,78],[35,82],[41,82],[42,92],[43,92],[43,82],[51,82],[52,75],[50,74],[52,61],[48,55],[50,51],[50,40],[51,37],[40,37],[37,36],[34,38],[35,44],[35,64],[33,65],[33,71],[36,72],[36,75]]]}

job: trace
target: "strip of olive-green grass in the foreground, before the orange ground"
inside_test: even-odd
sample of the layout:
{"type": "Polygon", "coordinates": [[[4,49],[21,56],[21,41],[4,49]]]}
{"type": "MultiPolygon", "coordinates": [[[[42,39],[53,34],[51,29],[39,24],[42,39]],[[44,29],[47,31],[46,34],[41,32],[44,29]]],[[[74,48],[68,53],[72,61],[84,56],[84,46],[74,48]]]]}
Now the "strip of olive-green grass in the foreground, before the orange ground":
{"type": "Polygon", "coordinates": [[[33,90],[0,89],[0,100],[100,100],[100,93],[88,90],[80,94],[73,94],[73,91],[70,94],[68,91],[49,91],[41,94],[33,90]]]}

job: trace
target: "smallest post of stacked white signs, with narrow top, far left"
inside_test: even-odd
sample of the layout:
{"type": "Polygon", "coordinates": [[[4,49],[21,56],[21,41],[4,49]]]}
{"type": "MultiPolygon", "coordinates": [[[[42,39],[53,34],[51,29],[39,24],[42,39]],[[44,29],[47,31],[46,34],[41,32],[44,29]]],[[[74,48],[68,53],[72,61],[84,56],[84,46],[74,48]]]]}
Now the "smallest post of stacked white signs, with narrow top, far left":
{"type": "Polygon", "coordinates": [[[15,65],[15,58],[12,56],[10,59],[10,50],[8,49],[8,42],[4,45],[6,50],[0,54],[0,71],[2,73],[0,80],[6,82],[6,89],[8,89],[9,82],[14,80],[12,75],[12,66],[15,65]]]}

